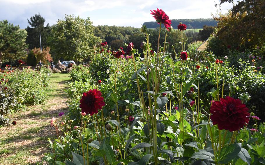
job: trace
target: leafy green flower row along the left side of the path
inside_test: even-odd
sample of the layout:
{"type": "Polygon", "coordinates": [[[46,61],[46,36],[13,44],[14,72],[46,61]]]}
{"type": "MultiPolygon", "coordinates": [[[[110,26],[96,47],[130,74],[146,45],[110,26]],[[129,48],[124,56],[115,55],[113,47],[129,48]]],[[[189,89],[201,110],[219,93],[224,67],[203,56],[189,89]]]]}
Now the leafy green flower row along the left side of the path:
{"type": "Polygon", "coordinates": [[[7,114],[22,110],[25,105],[43,103],[50,76],[47,68],[0,70],[0,125],[10,124],[7,114]]]}

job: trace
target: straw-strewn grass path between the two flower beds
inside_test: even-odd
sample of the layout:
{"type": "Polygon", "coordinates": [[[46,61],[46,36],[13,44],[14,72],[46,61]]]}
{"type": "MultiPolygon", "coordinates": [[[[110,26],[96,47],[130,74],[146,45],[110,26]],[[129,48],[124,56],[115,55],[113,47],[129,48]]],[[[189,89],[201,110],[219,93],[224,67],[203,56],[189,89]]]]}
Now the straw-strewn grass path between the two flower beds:
{"type": "Polygon", "coordinates": [[[15,120],[17,124],[0,128],[1,165],[38,164],[44,153],[50,152],[47,139],[56,137],[50,121],[68,109],[63,89],[69,80],[68,74],[52,74],[44,104],[26,107],[26,110],[9,116],[11,122],[15,120]]]}

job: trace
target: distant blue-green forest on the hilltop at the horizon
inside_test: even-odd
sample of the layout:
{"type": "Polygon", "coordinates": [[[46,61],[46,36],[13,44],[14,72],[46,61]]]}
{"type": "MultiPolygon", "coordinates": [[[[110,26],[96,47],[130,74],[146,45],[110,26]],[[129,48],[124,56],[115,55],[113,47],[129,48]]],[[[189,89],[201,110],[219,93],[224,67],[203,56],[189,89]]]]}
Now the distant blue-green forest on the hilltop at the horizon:
{"type": "MultiPolygon", "coordinates": [[[[212,18],[198,18],[198,19],[172,19],[171,20],[171,26],[176,29],[178,28],[179,22],[182,22],[182,24],[187,25],[187,29],[201,29],[204,25],[207,26],[216,26],[217,21],[215,21],[212,18]]],[[[144,22],[144,25],[146,25],[147,28],[157,28],[159,27],[159,24],[155,21],[153,22],[144,22]]]]}

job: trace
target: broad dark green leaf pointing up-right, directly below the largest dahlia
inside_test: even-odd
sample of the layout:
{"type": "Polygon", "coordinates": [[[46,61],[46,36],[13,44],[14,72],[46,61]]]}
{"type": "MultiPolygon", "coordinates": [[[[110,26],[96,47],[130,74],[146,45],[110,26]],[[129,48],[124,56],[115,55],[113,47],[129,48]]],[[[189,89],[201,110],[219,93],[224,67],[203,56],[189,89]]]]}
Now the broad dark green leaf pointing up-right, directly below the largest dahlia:
{"type": "Polygon", "coordinates": [[[241,143],[234,143],[228,146],[225,146],[221,149],[220,155],[218,156],[218,163],[226,164],[235,158],[241,151],[241,143]]]}

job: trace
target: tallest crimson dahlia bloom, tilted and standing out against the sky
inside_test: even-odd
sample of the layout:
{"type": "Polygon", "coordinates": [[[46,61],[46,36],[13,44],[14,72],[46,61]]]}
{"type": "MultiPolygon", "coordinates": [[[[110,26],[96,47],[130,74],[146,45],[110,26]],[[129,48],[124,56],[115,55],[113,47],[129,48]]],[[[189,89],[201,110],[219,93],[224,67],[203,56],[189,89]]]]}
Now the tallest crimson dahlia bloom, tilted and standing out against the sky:
{"type": "Polygon", "coordinates": [[[153,17],[156,19],[156,22],[158,24],[162,23],[164,24],[165,28],[169,31],[168,28],[170,28],[171,26],[171,20],[169,19],[169,17],[167,16],[167,14],[162,10],[162,9],[158,9],[157,10],[150,10],[151,11],[151,15],[154,15],[153,17]]]}

